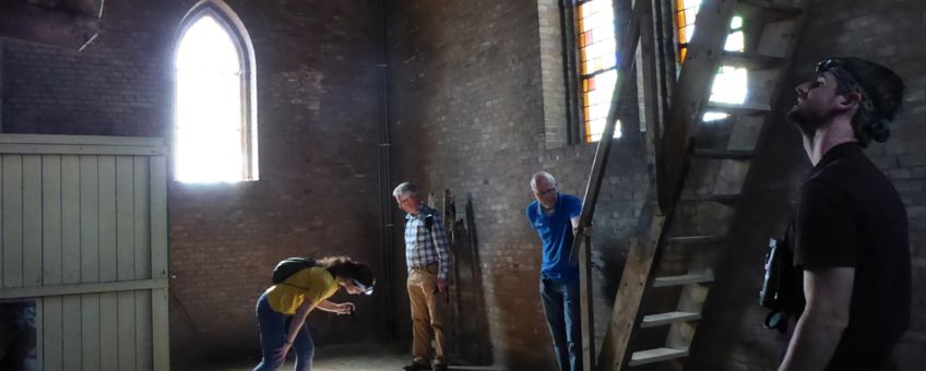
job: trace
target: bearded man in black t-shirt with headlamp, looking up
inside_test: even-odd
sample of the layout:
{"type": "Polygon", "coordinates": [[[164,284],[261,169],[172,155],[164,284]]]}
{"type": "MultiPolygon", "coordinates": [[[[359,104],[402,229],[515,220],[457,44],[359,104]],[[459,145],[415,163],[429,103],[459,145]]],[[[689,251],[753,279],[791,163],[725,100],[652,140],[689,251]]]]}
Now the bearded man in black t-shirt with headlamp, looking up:
{"type": "Polygon", "coordinates": [[[788,234],[804,302],[780,371],[881,370],[910,326],[904,205],[862,148],[887,141],[902,101],[893,71],[857,58],[817,64],[788,120],[814,169],[788,234]]]}

